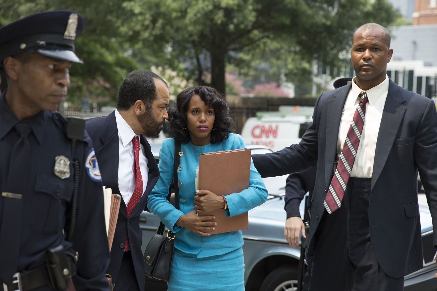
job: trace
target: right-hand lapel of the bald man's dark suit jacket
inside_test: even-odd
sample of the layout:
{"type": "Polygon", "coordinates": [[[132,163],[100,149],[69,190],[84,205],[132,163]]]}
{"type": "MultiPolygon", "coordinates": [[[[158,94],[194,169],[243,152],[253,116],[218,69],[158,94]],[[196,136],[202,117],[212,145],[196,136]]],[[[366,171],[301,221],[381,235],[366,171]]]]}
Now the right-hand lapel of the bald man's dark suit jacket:
{"type": "Polygon", "coordinates": [[[405,98],[398,86],[389,79],[388,94],[382,112],[381,124],[379,125],[378,139],[376,141],[375,159],[373,162],[373,174],[371,189],[378,180],[384,168],[395,140],[398,128],[402,122],[406,107],[402,105],[405,98]],[[395,130],[396,129],[396,130],[395,130]]]}

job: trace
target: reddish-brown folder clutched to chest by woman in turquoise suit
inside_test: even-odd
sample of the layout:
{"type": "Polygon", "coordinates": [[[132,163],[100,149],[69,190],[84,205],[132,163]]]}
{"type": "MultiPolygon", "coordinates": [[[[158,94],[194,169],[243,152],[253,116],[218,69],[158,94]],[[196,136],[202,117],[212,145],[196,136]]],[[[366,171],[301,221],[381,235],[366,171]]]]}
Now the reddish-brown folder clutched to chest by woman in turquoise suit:
{"type": "MultiPolygon", "coordinates": [[[[204,153],[199,157],[199,189],[209,190],[216,195],[238,193],[249,188],[249,176],[250,150],[246,148],[204,153]]],[[[215,216],[217,226],[211,234],[249,227],[247,212],[227,217],[224,210],[216,209],[212,212],[200,212],[198,215],[215,216]]]]}

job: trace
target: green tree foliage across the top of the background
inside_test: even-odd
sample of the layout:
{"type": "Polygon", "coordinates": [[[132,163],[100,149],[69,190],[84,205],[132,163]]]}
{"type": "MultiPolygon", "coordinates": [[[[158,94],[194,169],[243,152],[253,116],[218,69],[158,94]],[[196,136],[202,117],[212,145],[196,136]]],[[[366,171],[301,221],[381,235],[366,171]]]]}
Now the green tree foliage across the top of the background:
{"type": "MultiPolygon", "coordinates": [[[[0,25],[50,9],[76,10],[85,30],[76,40],[84,65],[73,65],[70,100],[117,99],[125,75],[162,66],[225,92],[226,66],[266,82],[304,82],[312,61],[344,65],[361,24],[400,17],[387,0],[0,0],[0,25]]],[[[398,21],[399,22],[399,21],[398,21]]]]}

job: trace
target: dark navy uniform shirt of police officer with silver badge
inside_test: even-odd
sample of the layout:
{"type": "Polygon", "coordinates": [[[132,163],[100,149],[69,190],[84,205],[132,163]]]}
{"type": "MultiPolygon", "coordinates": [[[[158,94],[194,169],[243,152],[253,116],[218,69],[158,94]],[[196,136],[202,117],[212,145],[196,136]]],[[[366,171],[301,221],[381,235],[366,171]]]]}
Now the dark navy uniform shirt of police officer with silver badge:
{"type": "MultiPolygon", "coordinates": [[[[7,181],[7,169],[14,144],[19,139],[14,125],[20,121],[0,96],[0,191],[7,181]]],[[[103,194],[94,149],[87,134],[76,142],[75,157],[80,163],[80,184],[77,199],[76,227],[73,238],[63,234],[68,205],[73,195],[73,165],[69,177],[55,175],[55,159],[71,160],[71,141],[65,134],[65,118],[57,112],[41,111],[26,121],[31,127],[29,173],[26,182],[21,240],[17,271],[32,270],[45,263],[45,250],[62,244],[65,250],[79,252],[76,288],[107,290],[104,271],[109,264],[108,239],[103,213],[103,194]]],[[[64,160],[65,161],[65,160],[64,160]]],[[[68,172],[68,170],[67,170],[68,172]]],[[[59,174],[58,174],[59,175],[59,174]]],[[[26,177],[23,177],[26,179],[26,177]]],[[[0,219],[4,197],[0,196],[0,219]]],[[[14,223],[14,221],[10,221],[14,223]]],[[[10,233],[10,236],[15,233],[10,233]]]]}

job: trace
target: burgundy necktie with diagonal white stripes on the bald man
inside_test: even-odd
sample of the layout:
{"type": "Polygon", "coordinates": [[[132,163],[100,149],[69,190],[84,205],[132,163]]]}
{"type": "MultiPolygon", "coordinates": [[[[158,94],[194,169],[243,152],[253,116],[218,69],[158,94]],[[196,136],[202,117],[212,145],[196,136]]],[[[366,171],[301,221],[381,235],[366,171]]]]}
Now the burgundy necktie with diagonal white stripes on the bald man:
{"type": "Polygon", "coordinates": [[[352,119],[349,130],[347,131],[346,140],[341,149],[334,177],[332,178],[328,193],[323,202],[323,205],[329,214],[336,211],[341,206],[341,201],[343,200],[344,192],[346,191],[347,181],[349,181],[350,173],[354,166],[358,144],[360,144],[368,98],[365,91],[361,91],[358,97],[360,98],[360,103],[358,104],[357,110],[355,110],[354,118],[352,119]]]}

